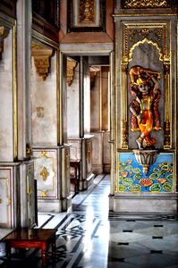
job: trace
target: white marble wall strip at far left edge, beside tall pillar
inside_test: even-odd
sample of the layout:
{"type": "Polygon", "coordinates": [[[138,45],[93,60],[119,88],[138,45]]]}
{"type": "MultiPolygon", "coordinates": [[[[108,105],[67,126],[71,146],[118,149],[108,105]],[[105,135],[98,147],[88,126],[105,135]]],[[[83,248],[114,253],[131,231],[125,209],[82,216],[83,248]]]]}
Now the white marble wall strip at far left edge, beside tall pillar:
{"type": "Polygon", "coordinates": [[[13,162],[13,29],[4,38],[0,62],[0,161],[13,162]]]}

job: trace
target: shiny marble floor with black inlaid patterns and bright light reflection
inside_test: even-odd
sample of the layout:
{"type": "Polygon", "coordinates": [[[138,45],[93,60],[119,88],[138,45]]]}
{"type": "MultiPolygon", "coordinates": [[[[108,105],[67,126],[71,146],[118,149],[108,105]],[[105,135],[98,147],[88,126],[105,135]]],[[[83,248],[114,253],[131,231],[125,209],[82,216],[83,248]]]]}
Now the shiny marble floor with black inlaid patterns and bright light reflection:
{"type": "MultiPolygon", "coordinates": [[[[57,228],[56,256],[47,267],[178,267],[178,218],[173,215],[108,211],[110,176],[99,175],[72,198],[72,213],[38,214],[38,228],[57,228]]],[[[10,266],[41,267],[40,251],[14,253],[10,266]]]]}

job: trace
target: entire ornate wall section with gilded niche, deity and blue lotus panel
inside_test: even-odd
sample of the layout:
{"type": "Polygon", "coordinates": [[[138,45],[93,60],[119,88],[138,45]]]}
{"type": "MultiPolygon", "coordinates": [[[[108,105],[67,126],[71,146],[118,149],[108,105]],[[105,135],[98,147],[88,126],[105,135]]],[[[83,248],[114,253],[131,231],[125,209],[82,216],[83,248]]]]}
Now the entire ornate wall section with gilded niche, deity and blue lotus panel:
{"type": "MultiPolygon", "coordinates": [[[[160,197],[161,203],[175,212],[176,16],[171,14],[172,7],[166,1],[166,13],[169,14],[162,10],[165,20],[160,17],[157,21],[156,8],[146,11],[145,6],[144,11],[140,7],[135,13],[133,9],[138,8],[138,1],[122,3],[127,4],[124,6],[126,14],[120,11],[115,15],[115,94],[118,103],[115,108],[117,166],[113,208],[114,211],[164,212],[165,207],[157,202],[160,197]],[[129,4],[135,4],[135,7],[129,4]],[[135,22],[131,13],[134,13],[135,22]],[[164,197],[173,198],[165,200],[164,197]],[[120,202],[120,198],[123,201],[120,202]]],[[[159,1],[161,3],[163,1],[159,1]]],[[[157,1],[148,4],[152,4],[151,9],[157,1]]],[[[161,8],[157,5],[159,12],[161,8]]]]}

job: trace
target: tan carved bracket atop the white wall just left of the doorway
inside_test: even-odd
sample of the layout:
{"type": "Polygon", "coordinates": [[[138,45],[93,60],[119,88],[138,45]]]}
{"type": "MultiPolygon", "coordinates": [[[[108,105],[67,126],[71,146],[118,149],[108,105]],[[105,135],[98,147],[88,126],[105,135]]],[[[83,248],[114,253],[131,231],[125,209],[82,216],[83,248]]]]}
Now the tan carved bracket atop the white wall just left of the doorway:
{"type": "Polygon", "coordinates": [[[32,45],[32,56],[34,57],[36,71],[43,81],[46,80],[47,74],[49,73],[52,54],[53,49],[39,45],[32,45]]]}

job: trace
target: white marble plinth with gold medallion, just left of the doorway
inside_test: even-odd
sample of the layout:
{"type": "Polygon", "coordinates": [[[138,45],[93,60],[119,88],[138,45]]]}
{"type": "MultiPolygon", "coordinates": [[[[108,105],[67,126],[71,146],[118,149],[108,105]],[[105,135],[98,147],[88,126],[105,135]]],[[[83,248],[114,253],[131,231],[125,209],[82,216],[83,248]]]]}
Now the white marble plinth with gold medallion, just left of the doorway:
{"type": "Polygon", "coordinates": [[[59,213],[70,209],[70,146],[35,147],[33,155],[36,158],[38,212],[59,213]]]}

